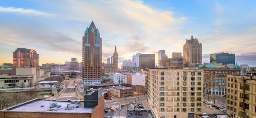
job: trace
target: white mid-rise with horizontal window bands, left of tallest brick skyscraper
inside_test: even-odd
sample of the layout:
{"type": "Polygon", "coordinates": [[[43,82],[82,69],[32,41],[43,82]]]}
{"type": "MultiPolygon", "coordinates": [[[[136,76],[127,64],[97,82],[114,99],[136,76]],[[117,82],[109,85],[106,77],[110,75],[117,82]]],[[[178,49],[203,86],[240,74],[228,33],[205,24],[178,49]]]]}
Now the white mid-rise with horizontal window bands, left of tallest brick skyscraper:
{"type": "Polygon", "coordinates": [[[67,65],[63,65],[63,64],[51,65],[51,76],[63,76],[64,71],[67,71],[67,70],[68,70],[67,65]]]}

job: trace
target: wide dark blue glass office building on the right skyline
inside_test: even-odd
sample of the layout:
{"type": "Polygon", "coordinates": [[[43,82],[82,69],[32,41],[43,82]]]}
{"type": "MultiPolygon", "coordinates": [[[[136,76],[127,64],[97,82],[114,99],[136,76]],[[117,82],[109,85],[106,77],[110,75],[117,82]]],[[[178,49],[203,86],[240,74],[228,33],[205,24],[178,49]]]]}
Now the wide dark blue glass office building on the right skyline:
{"type": "Polygon", "coordinates": [[[222,63],[223,65],[234,64],[235,65],[235,54],[234,53],[213,53],[210,54],[210,63],[222,63]]]}

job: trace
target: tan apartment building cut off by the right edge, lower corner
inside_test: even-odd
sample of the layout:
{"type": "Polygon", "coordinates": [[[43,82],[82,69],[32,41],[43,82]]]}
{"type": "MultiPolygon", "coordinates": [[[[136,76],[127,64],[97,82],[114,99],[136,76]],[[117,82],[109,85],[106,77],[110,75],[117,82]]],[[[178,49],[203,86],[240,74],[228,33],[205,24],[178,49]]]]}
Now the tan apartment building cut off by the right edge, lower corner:
{"type": "Polygon", "coordinates": [[[256,77],[227,75],[227,114],[256,118],[256,77]]]}

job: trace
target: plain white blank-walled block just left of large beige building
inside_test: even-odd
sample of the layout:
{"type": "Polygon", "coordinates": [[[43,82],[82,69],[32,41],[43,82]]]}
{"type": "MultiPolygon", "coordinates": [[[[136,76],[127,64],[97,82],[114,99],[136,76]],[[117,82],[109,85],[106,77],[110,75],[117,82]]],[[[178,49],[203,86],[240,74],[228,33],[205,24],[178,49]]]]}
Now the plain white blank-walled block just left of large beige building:
{"type": "Polygon", "coordinates": [[[131,85],[145,86],[145,76],[140,73],[137,73],[136,75],[131,75],[131,85]]]}

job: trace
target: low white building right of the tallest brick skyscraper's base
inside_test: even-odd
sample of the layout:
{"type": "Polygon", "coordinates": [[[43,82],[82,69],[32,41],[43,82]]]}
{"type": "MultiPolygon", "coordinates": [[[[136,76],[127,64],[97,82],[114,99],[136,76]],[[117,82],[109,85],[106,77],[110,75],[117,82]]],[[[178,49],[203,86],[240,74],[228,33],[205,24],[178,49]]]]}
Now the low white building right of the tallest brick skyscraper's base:
{"type": "Polygon", "coordinates": [[[111,73],[109,75],[110,79],[113,79],[113,84],[126,84],[127,83],[127,75],[120,73],[111,73]]]}

